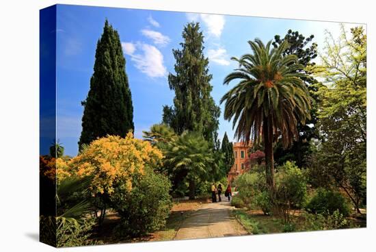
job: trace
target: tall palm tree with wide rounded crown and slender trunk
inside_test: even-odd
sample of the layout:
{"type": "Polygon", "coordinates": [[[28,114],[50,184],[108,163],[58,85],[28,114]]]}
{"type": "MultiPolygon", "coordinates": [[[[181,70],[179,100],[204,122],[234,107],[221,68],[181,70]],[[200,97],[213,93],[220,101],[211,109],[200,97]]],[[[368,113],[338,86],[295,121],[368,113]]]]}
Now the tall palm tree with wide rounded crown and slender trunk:
{"type": "Polygon", "coordinates": [[[284,42],[271,48],[256,38],[248,41],[252,53],[232,58],[239,68],[227,75],[224,84],[239,83],[221,99],[225,103],[224,118],[235,125],[235,137],[244,142],[263,140],[267,184],[274,188],[273,142],[281,138],[284,148],[299,137],[297,122],[310,118],[310,95],[301,77],[303,66],[296,55],[282,55],[288,48],[284,42]]]}

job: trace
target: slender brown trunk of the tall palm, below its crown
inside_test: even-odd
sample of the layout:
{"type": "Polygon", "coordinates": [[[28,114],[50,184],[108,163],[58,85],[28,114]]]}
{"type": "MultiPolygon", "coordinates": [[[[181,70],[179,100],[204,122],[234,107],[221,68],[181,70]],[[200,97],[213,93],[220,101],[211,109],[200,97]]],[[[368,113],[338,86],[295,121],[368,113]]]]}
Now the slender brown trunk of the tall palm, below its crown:
{"type": "Polygon", "coordinates": [[[265,118],[263,122],[263,138],[267,185],[271,190],[274,190],[273,125],[271,125],[269,118],[265,118]]]}

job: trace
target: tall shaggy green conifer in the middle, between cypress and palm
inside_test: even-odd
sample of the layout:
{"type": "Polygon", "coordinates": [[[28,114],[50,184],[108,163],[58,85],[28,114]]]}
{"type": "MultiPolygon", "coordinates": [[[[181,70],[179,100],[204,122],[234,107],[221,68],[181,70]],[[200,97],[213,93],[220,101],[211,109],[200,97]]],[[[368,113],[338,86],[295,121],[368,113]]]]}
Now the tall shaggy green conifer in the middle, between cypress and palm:
{"type": "MultiPolygon", "coordinates": [[[[210,143],[218,129],[219,107],[211,97],[209,60],[204,56],[204,36],[199,23],[188,23],[183,30],[181,49],[172,52],[176,60],[174,73],[168,76],[174,90],[174,105],[164,106],[163,123],[180,135],[183,131],[196,131],[210,143]]],[[[214,144],[214,143],[213,143],[214,144]]]]}

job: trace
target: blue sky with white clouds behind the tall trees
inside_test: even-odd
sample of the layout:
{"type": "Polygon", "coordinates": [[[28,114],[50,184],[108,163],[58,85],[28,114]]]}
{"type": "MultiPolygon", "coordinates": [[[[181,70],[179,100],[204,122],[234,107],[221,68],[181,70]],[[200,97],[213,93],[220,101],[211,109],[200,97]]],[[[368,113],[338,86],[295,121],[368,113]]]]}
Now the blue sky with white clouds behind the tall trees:
{"type": "MultiPolygon", "coordinates": [[[[88,95],[96,42],[103,32],[105,18],[120,34],[137,138],[142,138],[142,131],[161,122],[163,105],[172,105],[174,92],[167,82],[168,73],[174,73],[172,49],[180,48],[181,33],[189,21],[200,22],[202,27],[204,53],[213,75],[212,96],[217,104],[235,84],[222,84],[224,77],[236,68],[230,57],[249,52],[248,40],[268,41],[293,29],[304,36],[314,34],[320,51],[325,29],[334,37],[339,34],[338,23],[321,21],[57,5],[57,139],[65,147],[66,155],[77,155],[83,114],[81,101],[88,95]]],[[[221,114],[219,138],[225,131],[233,136],[232,123],[224,121],[221,114]]]]}

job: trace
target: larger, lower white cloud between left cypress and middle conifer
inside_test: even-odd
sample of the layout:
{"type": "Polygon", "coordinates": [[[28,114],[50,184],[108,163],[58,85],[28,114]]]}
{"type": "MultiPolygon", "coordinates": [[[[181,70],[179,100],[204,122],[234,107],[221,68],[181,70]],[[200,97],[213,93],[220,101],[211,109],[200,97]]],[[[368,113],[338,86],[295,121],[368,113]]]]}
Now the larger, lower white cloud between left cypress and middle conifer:
{"type": "Polygon", "coordinates": [[[129,48],[132,50],[126,51],[124,53],[131,56],[131,61],[134,62],[135,67],[148,75],[148,77],[165,77],[167,75],[167,69],[163,63],[163,54],[153,45],[148,45],[142,42],[137,42],[133,44],[131,42],[122,42],[124,45],[132,45],[129,48]],[[142,53],[135,53],[136,51],[142,51],[142,53]]]}

